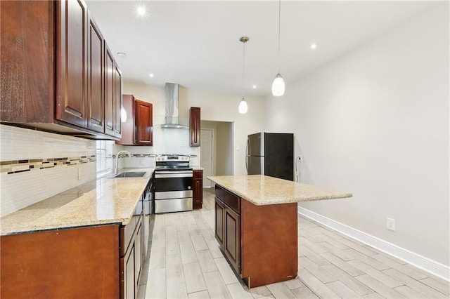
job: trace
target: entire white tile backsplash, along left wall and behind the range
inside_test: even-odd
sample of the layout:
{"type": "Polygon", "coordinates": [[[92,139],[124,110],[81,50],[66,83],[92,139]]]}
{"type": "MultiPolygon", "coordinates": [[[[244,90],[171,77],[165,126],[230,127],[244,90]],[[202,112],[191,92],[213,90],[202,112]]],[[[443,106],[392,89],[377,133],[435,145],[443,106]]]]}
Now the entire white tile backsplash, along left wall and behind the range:
{"type": "MultiPolygon", "coordinates": [[[[154,167],[153,154],[187,154],[200,165],[200,147],[190,147],[189,130],[161,128],[153,118],[153,147],[113,145],[106,161],[127,150],[120,168],[154,167]]],[[[186,124],[188,119],[180,119],[186,124]]],[[[0,217],[96,178],[96,141],[0,125],[0,217]]]]}

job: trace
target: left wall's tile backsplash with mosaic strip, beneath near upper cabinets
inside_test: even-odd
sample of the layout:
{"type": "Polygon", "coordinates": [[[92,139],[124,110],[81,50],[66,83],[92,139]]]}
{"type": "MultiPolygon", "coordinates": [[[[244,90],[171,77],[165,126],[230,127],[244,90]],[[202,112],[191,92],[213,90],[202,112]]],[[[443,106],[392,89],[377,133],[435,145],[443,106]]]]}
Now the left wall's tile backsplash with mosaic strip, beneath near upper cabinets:
{"type": "Polygon", "coordinates": [[[96,142],[0,125],[0,216],[96,178],[96,142]]]}

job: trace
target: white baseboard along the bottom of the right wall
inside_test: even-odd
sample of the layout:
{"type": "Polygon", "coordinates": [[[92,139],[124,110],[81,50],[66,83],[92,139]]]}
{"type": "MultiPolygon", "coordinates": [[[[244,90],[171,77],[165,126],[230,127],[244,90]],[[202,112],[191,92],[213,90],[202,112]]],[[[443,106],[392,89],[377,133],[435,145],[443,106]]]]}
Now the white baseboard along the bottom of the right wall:
{"type": "Polygon", "coordinates": [[[366,234],[366,232],[356,230],[353,227],[349,227],[348,225],[342,224],[338,221],[327,218],[313,211],[309,211],[307,208],[302,208],[299,206],[298,213],[300,215],[303,215],[304,217],[326,225],[333,230],[337,230],[338,232],[345,234],[348,237],[367,244],[368,246],[372,246],[379,251],[383,251],[384,253],[392,255],[399,260],[403,260],[406,263],[414,265],[422,270],[425,270],[426,272],[430,272],[437,277],[445,279],[446,281],[450,281],[449,266],[436,262],[435,260],[431,260],[430,258],[426,258],[423,255],[414,253],[412,251],[409,251],[408,249],[402,248],[378,237],[374,237],[371,234],[366,234]]]}

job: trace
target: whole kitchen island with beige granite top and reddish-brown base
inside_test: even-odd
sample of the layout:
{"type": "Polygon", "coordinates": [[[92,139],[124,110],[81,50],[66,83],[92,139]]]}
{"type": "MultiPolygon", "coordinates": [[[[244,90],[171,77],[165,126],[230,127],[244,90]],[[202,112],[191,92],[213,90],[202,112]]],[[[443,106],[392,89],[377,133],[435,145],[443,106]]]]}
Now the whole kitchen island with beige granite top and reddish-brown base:
{"type": "Polygon", "coordinates": [[[264,175],[209,176],[215,237],[249,288],[297,277],[297,203],[352,197],[264,175]]]}

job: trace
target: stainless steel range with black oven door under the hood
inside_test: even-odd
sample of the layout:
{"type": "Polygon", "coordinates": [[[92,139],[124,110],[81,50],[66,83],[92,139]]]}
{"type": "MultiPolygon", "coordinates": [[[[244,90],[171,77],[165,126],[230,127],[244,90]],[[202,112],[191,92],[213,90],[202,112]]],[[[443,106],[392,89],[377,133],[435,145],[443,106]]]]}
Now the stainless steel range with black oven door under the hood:
{"type": "Polygon", "coordinates": [[[155,213],[192,211],[192,173],[187,155],[160,154],[156,157],[153,173],[155,213]]]}

